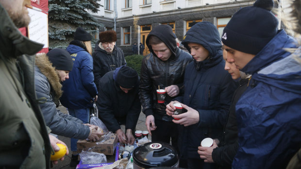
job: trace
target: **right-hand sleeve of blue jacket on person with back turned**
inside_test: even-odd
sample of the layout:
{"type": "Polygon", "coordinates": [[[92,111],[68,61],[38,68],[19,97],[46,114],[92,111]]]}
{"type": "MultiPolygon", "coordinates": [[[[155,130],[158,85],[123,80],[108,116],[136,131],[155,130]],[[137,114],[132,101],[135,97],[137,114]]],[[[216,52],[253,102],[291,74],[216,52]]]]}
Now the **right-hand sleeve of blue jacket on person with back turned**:
{"type": "Polygon", "coordinates": [[[91,55],[86,54],[80,65],[81,78],[84,88],[89,92],[91,97],[94,97],[98,92],[94,83],[93,59],[91,55]]]}

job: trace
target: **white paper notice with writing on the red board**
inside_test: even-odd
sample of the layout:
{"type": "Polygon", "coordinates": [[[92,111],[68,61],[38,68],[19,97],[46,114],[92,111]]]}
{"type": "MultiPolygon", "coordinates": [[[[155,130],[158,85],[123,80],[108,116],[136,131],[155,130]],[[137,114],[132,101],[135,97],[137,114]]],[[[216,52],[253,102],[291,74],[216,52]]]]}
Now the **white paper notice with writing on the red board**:
{"type": "Polygon", "coordinates": [[[31,22],[28,26],[29,39],[44,44],[43,48],[48,47],[48,16],[42,12],[28,8],[31,22]]]}

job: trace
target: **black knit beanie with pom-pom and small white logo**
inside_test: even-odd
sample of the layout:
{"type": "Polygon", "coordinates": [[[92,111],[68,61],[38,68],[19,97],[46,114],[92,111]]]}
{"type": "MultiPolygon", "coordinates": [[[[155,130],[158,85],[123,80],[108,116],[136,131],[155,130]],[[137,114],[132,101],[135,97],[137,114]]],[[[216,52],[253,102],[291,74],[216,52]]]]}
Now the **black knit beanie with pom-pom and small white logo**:
{"type": "Polygon", "coordinates": [[[257,0],[253,6],[237,11],[224,28],[223,44],[256,55],[278,31],[278,19],[271,13],[273,0],[257,0]]]}

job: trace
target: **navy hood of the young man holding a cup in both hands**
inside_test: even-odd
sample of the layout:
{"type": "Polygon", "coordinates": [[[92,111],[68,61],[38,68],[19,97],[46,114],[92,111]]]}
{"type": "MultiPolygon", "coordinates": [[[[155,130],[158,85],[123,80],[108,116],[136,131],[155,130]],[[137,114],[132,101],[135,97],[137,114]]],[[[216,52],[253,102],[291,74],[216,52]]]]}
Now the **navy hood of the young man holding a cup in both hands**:
{"type": "Polygon", "coordinates": [[[195,61],[197,70],[208,69],[222,61],[221,40],[217,28],[210,22],[199,22],[185,34],[182,44],[191,53],[188,43],[196,43],[209,51],[209,58],[204,61],[195,61]]]}

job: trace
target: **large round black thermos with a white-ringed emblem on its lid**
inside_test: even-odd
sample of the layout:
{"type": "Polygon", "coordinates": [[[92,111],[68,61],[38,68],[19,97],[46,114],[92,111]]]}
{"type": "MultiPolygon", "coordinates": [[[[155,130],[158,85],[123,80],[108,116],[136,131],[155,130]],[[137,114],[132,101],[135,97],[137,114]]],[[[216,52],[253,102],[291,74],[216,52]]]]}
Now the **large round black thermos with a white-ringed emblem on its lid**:
{"type": "Polygon", "coordinates": [[[164,142],[149,142],[134,149],[134,169],[179,167],[179,155],[174,147],[164,142]]]}

